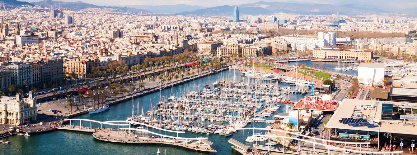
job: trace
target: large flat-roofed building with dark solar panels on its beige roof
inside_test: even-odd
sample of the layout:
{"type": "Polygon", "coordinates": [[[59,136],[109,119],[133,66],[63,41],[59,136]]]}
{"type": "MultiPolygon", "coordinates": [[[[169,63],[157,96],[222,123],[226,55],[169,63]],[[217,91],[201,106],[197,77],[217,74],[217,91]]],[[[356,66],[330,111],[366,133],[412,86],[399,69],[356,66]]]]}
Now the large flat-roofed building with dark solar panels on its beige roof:
{"type": "Polygon", "coordinates": [[[331,140],[370,142],[363,149],[379,150],[384,144],[411,148],[417,140],[416,124],[415,103],[344,99],[325,128],[331,140]]]}

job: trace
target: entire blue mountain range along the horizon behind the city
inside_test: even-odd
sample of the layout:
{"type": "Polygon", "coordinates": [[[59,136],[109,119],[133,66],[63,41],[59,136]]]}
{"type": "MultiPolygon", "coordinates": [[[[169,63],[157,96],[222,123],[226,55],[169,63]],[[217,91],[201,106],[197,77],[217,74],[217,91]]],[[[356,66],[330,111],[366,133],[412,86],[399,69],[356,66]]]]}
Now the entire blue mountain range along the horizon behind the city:
{"type": "MultiPolygon", "coordinates": [[[[379,6],[377,1],[385,2],[387,0],[344,0],[335,5],[316,4],[313,2],[300,2],[297,0],[287,2],[255,2],[250,4],[238,5],[241,15],[268,15],[275,12],[301,14],[301,15],[331,15],[339,12],[341,15],[417,15],[417,8],[400,9],[392,7],[379,6]],[[358,4],[352,4],[358,2],[358,4]]],[[[409,0],[403,0],[409,1],[409,0]]],[[[55,4],[53,0],[42,0],[40,2],[23,2],[17,0],[0,0],[0,2],[18,7],[19,5],[40,5],[50,7],[55,4]]],[[[402,1],[400,1],[402,2],[402,1]]],[[[197,16],[231,16],[235,5],[222,5],[217,7],[202,7],[198,5],[124,5],[124,6],[99,6],[85,2],[63,2],[56,1],[56,4],[62,4],[66,10],[81,10],[91,8],[112,8],[120,12],[142,12],[142,13],[162,13],[178,15],[197,15],[197,16]]]]}

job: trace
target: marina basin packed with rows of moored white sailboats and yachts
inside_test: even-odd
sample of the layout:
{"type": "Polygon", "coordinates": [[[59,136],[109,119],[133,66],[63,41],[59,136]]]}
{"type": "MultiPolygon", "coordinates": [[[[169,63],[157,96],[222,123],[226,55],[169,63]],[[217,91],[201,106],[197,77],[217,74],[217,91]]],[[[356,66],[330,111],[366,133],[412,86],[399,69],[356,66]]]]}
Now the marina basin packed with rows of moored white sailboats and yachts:
{"type": "MultiPolygon", "coordinates": [[[[165,139],[168,147],[158,146],[161,143],[158,138],[153,137],[137,137],[136,140],[146,140],[151,138],[150,143],[145,141],[135,141],[140,145],[126,146],[126,143],[133,143],[131,138],[123,138],[136,135],[137,132],[148,133],[152,136],[171,136],[181,138],[207,138],[213,145],[201,145],[204,147],[210,147],[216,153],[225,155],[233,154],[224,150],[224,145],[220,143],[227,143],[230,138],[246,139],[253,136],[254,130],[243,132],[236,130],[242,127],[254,127],[265,128],[270,123],[274,123],[274,115],[276,113],[286,113],[301,98],[309,96],[311,93],[311,86],[314,85],[313,81],[304,79],[296,79],[287,76],[275,76],[278,77],[275,80],[261,79],[246,77],[243,71],[239,70],[224,70],[219,73],[207,75],[205,77],[195,77],[189,79],[187,82],[163,87],[165,89],[154,89],[152,92],[141,95],[141,97],[125,98],[123,101],[119,101],[118,104],[109,103],[111,105],[110,110],[106,110],[95,114],[82,114],[73,117],[72,119],[88,119],[100,122],[126,120],[131,123],[130,125],[113,125],[112,127],[103,127],[102,124],[97,122],[86,123],[85,121],[64,121],[63,125],[73,125],[75,128],[57,127],[58,130],[52,130],[51,132],[43,133],[43,135],[56,135],[62,138],[68,138],[69,135],[80,135],[80,138],[75,141],[83,141],[83,143],[90,143],[94,147],[106,150],[102,146],[103,143],[112,141],[111,149],[118,149],[129,147],[129,150],[134,151],[139,149],[140,151],[147,151],[153,153],[154,150],[163,149],[170,153],[182,153],[185,155],[193,154],[186,146],[194,146],[197,141],[192,144],[181,145],[185,141],[179,140],[175,148],[170,148],[173,145],[172,139],[165,139]],[[294,104],[294,105],[293,105],[294,104]],[[139,124],[142,123],[143,125],[139,124]],[[146,126],[146,125],[147,126],[146,126]],[[111,133],[111,140],[102,139],[106,138],[103,131],[87,129],[90,128],[106,128],[111,129],[114,132],[119,131],[123,135],[117,135],[111,133]],[[76,128],[79,127],[79,128],[76,128]],[[66,130],[63,132],[62,130],[66,130]],[[124,132],[123,132],[124,130],[124,132]],[[128,132],[126,132],[126,130],[128,132]],[[167,130],[171,131],[168,132],[167,130]],[[99,134],[93,135],[91,140],[91,133],[96,132],[99,134]],[[183,132],[183,133],[175,133],[183,132]],[[240,133],[240,134],[239,134],[240,133]],[[112,135],[113,134],[113,135],[112,135]],[[179,135],[178,135],[179,134],[179,135]],[[101,136],[101,137],[100,137],[101,136]],[[120,141],[118,138],[119,137],[120,141]],[[117,139],[117,140],[112,140],[117,139]],[[124,142],[123,142],[124,141],[124,142]],[[99,143],[97,143],[99,142],[99,143]],[[151,145],[151,144],[158,145],[151,145]],[[146,145],[146,147],[143,147],[146,145]]],[[[114,124],[114,123],[113,123],[114,124]]],[[[111,132],[111,131],[110,131],[111,132]]],[[[259,132],[264,135],[264,132],[259,132]]],[[[141,134],[143,135],[143,134],[141,134]]],[[[39,134],[32,135],[30,138],[40,138],[39,134]]],[[[12,136],[5,138],[4,140],[12,141],[14,139],[20,139],[23,136],[12,136]]],[[[40,138],[42,139],[42,138],[40,138]]],[[[162,140],[161,140],[162,141],[162,140]]],[[[254,145],[256,142],[242,142],[244,145],[254,145]]],[[[267,141],[258,141],[259,145],[268,143],[267,141]]],[[[230,145],[230,144],[228,144],[230,145]]],[[[1,146],[9,147],[9,146],[1,146]]],[[[200,144],[198,145],[200,147],[200,144]]],[[[201,148],[201,147],[200,147],[201,148]]],[[[88,150],[87,150],[88,151],[88,150]]],[[[198,150],[213,152],[208,150],[198,150]]],[[[95,153],[111,154],[111,150],[107,151],[95,151],[95,153]]]]}

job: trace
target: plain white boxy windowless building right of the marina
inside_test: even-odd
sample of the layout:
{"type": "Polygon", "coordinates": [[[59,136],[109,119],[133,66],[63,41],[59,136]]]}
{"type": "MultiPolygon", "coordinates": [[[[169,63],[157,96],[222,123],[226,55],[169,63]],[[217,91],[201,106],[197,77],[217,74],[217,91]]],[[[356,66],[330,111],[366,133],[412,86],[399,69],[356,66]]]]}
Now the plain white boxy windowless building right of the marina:
{"type": "Polygon", "coordinates": [[[361,63],[358,67],[358,80],[361,84],[374,85],[384,79],[384,64],[361,63]]]}

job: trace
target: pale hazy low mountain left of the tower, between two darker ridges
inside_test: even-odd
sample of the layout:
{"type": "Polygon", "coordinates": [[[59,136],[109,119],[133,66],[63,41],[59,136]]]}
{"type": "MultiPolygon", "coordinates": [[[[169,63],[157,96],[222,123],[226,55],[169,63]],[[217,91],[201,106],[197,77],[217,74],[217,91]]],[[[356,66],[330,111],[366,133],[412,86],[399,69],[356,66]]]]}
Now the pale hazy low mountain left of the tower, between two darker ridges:
{"type": "Polygon", "coordinates": [[[118,7],[133,7],[136,9],[143,9],[152,11],[155,13],[179,13],[183,11],[194,11],[198,9],[205,9],[207,7],[202,7],[198,5],[186,5],[186,4],[177,4],[177,5],[124,5],[118,7]]]}

